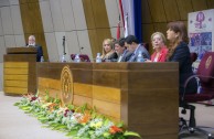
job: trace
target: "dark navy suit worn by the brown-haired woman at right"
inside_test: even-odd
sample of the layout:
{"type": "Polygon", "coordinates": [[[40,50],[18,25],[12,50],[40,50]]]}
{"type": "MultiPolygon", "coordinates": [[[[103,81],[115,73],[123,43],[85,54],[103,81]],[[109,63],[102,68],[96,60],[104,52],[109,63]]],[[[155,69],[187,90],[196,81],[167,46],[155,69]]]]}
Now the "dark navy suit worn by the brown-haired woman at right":
{"type": "MultiPolygon", "coordinates": [[[[188,44],[185,42],[181,42],[176,49],[174,50],[174,53],[169,58],[170,62],[179,62],[179,82],[180,82],[180,94],[184,92],[184,83],[185,81],[193,75],[192,72],[192,63],[190,57],[190,50],[188,47],[188,44]]],[[[186,93],[193,94],[196,93],[197,89],[197,83],[196,79],[193,78],[190,81],[190,84],[186,87],[186,93]]]]}

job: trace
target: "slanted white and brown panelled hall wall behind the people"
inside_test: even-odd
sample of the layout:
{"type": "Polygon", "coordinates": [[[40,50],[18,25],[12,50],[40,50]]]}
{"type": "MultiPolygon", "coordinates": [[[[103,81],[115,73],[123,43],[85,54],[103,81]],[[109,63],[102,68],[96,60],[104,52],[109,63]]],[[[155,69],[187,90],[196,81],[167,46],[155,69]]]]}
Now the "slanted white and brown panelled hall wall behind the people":
{"type": "MultiPolygon", "coordinates": [[[[165,34],[168,22],[186,23],[189,12],[212,8],[213,0],[142,0],[143,42],[150,42],[154,31],[165,34]]],[[[93,60],[105,38],[116,38],[118,20],[118,0],[0,0],[0,90],[7,47],[24,46],[34,34],[45,60],[57,62],[65,36],[67,60],[72,53],[93,60]]]]}

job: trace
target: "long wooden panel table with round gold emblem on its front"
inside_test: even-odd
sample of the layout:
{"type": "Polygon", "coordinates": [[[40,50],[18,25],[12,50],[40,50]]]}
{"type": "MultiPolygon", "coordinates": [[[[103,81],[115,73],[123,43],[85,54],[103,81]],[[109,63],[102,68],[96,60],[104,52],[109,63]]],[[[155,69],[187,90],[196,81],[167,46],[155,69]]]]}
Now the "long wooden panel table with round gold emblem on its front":
{"type": "Polygon", "coordinates": [[[41,95],[95,106],[143,139],[178,138],[178,63],[38,63],[38,84],[41,95]]]}

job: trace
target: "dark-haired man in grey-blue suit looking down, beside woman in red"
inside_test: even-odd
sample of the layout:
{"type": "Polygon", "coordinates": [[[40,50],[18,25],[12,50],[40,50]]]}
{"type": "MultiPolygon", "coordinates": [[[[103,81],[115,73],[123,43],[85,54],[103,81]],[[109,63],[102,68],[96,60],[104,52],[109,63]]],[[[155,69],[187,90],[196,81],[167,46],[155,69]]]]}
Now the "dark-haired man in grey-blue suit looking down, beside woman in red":
{"type": "Polygon", "coordinates": [[[139,43],[135,35],[128,35],[125,39],[125,46],[128,49],[129,53],[125,56],[127,62],[137,62],[137,56],[139,53],[142,54],[143,58],[150,60],[150,54],[147,49],[139,43]]]}

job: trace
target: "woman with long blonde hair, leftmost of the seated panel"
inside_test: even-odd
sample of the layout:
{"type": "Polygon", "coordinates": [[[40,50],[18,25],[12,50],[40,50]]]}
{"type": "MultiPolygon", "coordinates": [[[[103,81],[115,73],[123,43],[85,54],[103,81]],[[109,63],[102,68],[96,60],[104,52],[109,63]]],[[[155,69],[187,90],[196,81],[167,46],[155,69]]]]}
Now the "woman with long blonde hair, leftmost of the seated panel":
{"type": "Polygon", "coordinates": [[[110,39],[105,39],[103,42],[103,62],[115,62],[118,58],[117,53],[114,50],[113,41],[110,39]]]}

